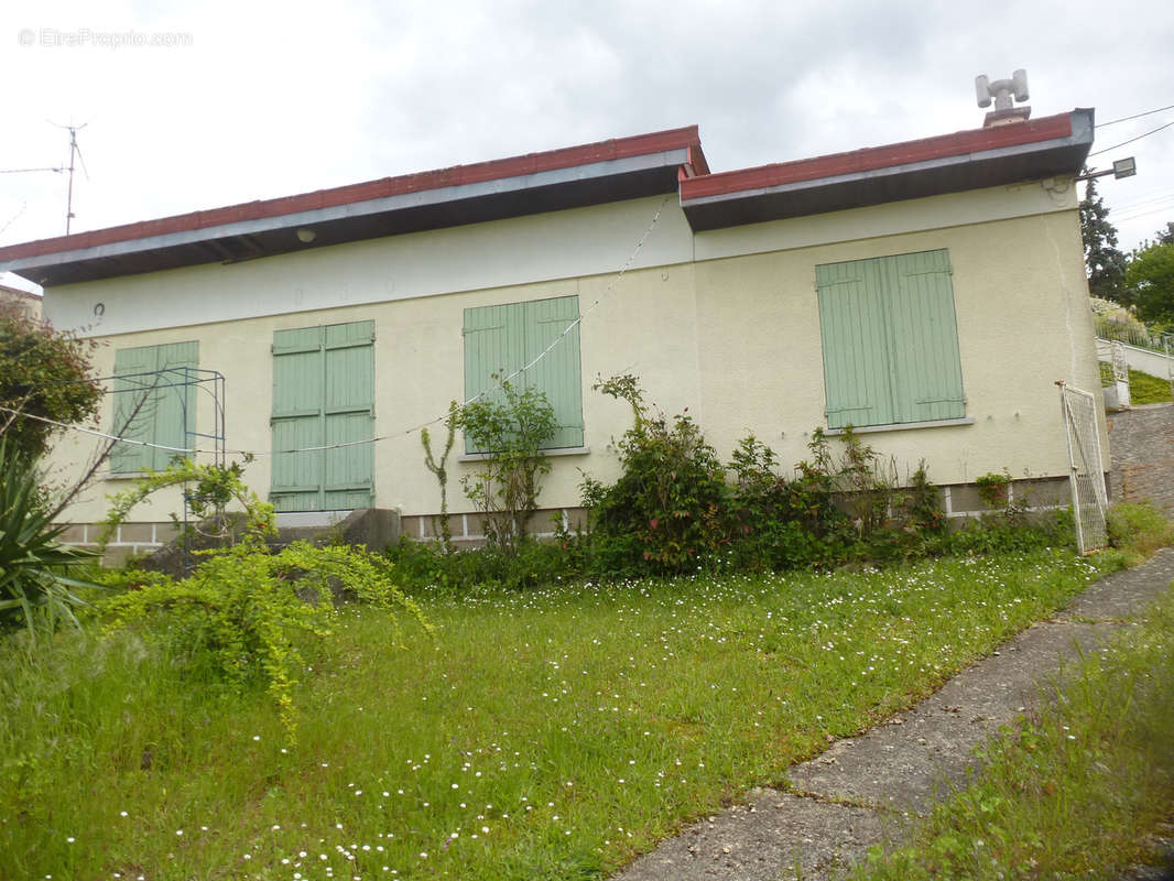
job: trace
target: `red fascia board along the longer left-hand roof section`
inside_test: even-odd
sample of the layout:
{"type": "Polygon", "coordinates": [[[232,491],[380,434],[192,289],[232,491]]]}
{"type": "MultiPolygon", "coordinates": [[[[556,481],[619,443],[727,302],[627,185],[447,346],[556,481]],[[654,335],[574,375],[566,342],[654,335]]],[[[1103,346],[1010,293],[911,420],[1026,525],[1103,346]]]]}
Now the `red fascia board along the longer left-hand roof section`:
{"type": "Polygon", "coordinates": [[[302,193],[294,196],[268,199],[257,202],[212,208],[190,214],[177,214],[170,217],[127,223],[120,227],[95,229],[88,233],[76,233],[55,238],[41,238],[34,242],[22,242],[0,248],[0,261],[22,257],[40,257],[47,254],[85,250],[113,242],[131,242],[151,236],[187,233],[225,223],[281,217],[286,214],[312,211],[321,208],[365,202],[385,196],[398,196],[406,193],[419,193],[443,187],[459,187],[468,183],[505,177],[518,177],[528,174],[553,172],[560,168],[573,168],[608,160],[642,156],[649,153],[686,149],[690,161],[700,160],[702,173],[708,173],[704,155],[701,153],[701,137],[696,126],[673,128],[664,132],[653,132],[632,137],[618,137],[609,141],[598,141],[579,147],[564,147],[545,153],[529,153],[525,156],[475,162],[470,166],[453,166],[434,172],[420,172],[398,177],[383,177],[377,181],[352,183],[345,187],[322,189],[313,193],[302,193]]]}

